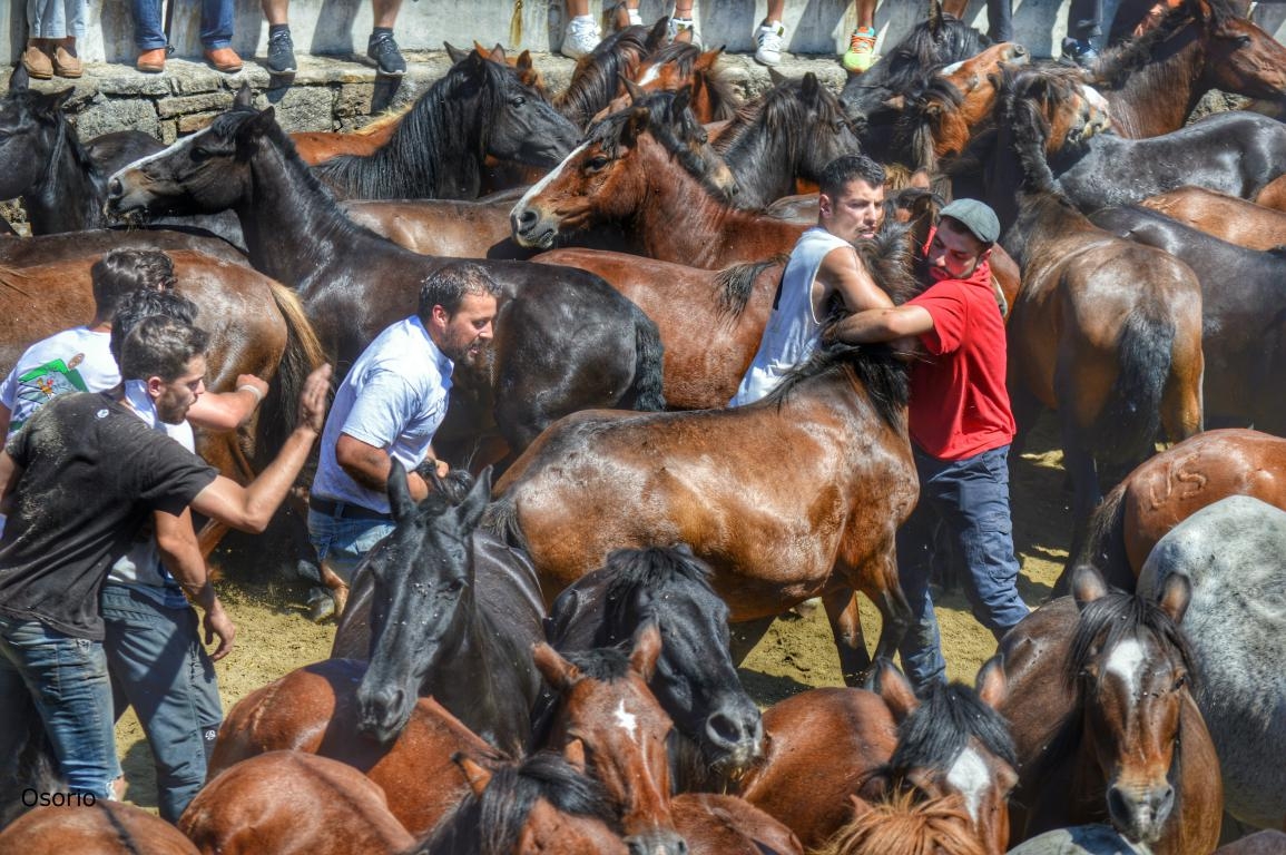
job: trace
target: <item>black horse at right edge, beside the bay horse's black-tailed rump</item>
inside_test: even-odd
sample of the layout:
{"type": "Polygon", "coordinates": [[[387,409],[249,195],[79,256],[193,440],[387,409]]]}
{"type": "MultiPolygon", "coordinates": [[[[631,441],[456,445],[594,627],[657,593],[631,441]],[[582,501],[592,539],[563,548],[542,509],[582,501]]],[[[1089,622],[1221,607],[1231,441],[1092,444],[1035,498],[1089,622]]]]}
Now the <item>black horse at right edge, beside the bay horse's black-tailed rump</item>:
{"type": "Polygon", "coordinates": [[[1197,275],[1206,427],[1254,426],[1286,436],[1286,401],[1264,395],[1286,372],[1286,249],[1245,249],[1136,206],[1089,219],[1165,249],[1197,275]]]}

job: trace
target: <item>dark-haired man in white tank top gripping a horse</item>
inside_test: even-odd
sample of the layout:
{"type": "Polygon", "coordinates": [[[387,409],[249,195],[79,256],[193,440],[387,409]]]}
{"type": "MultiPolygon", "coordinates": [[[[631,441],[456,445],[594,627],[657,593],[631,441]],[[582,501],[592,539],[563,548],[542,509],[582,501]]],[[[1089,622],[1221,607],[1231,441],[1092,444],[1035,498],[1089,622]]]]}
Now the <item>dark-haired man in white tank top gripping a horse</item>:
{"type": "Polygon", "coordinates": [[[800,235],[782,274],[759,352],[729,406],[766,396],[817,350],[822,327],[838,300],[846,312],[891,309],[853,242],[871,239],[883,220],[883,167],[864,154],[845,154],[822,172],[817,225],[800,235]]]}

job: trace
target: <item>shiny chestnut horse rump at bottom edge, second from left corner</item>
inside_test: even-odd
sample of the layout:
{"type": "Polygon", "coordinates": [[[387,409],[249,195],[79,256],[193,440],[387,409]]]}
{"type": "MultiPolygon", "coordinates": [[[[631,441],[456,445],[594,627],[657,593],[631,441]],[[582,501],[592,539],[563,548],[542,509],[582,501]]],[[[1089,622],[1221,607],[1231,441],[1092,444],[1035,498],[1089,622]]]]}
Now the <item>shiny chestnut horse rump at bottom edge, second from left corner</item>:
{"type": "Polygon", "coordinates": [[[394,855],[415,842],[379,784],[301,751],[270,751],[222,770],[177,825],[202,855],[394,855]]]}

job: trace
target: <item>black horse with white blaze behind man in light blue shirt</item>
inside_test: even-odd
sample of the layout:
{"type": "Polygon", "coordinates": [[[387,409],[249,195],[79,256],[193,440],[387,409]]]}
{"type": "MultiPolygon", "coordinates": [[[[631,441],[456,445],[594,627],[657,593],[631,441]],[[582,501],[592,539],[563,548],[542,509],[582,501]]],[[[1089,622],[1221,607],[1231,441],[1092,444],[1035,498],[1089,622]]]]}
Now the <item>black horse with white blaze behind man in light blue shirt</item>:
{"type": "MultiPolygon", "coordinates": [[[[251,262],[298,291],[337,375],[381,330],[415,311],[421,283],[449,261],[350,222],[294,153],[271,108],[219,116],[113,175],[109,195],[120,211],[235,210],[251,262]]],[[[576,410],[664,408],[660,337],[634,303],[581,270],[478,264],[503,292],[493,360],[481,378],[457,372],[453,410],[476,399],[478,418],[494,417],[517,454],[576,410]]],[[[472,442],[485,427],[471,424],[463,435],[472,442]]]]}

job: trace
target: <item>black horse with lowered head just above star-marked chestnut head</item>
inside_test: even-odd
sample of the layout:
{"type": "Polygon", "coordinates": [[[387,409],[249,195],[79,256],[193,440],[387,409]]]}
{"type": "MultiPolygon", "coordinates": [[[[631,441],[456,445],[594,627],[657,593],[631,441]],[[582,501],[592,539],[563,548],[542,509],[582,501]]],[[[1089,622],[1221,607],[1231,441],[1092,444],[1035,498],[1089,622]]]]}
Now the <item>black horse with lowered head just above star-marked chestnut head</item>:
{"type": "MultiPolygon", "coordinates": [[[[729,653],[728,606],[709,576],[685,544],[617,549],[559,594],[545,621],[548,642],[563,653],[629,645],[656,621],[665,645],[648,688],[685,737],[670,746],[680,789],[721,788],[763,753],[759,708],[729,653]]],[[[538,732],[556,699],[543,697],[538,732]]]]}

